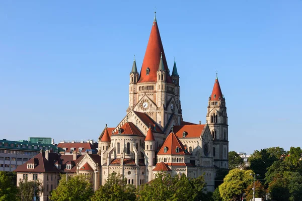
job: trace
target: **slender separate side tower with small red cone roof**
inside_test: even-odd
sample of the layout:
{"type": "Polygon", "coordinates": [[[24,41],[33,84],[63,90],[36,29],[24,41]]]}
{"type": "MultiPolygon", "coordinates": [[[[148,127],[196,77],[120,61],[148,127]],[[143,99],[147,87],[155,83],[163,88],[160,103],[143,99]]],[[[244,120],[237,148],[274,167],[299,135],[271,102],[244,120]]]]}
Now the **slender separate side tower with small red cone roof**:
{"type": "Polygon", "coordinates": [[[228,115],[217,75],[208,101],[206,121],[213,137],[214,165],[229,168],[228,115]]]}

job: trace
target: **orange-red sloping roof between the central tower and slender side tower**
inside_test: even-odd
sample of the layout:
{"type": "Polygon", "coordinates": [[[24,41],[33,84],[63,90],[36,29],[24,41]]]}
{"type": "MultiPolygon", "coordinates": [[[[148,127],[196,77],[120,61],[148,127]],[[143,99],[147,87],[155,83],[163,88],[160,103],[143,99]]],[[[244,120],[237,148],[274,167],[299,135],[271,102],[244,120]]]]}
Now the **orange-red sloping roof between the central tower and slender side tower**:
{"type": "Polygon", "coordinates": [[[183,133],[186,133],[185,138],[199,138],[205,124],[194,124],[194,125],[184,125],[184,126],[174,126],[173,131],[178,138],[183,138],[183,133]]]}

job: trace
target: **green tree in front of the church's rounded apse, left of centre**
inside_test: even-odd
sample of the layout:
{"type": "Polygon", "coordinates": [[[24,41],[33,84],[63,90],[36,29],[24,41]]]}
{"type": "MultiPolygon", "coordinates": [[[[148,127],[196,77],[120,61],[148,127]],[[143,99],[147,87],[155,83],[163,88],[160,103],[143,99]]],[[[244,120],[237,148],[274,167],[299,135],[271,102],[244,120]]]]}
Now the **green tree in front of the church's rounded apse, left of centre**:
{"type": "Polygon", "coordinates": [[[121,174],[112,173],[106,183],[95,191],[92,201],[134,201],[136,199],[135,186],[128,184],[121,174]]]}

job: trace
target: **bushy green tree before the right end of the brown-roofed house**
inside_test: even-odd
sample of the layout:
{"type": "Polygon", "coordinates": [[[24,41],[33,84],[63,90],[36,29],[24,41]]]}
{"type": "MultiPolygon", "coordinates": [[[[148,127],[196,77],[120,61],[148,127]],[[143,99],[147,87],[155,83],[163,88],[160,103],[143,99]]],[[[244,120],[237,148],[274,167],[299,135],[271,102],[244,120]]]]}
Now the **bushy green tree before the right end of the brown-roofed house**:
{"type": "Polygon", "coordinates": [[[50,199],[54,201],[89,200],[92,194],[92,184],[87,176],[68,176],[68,181],[66,181],[66,176],[62,174],[59,185],[51,192],[50,199]]]}

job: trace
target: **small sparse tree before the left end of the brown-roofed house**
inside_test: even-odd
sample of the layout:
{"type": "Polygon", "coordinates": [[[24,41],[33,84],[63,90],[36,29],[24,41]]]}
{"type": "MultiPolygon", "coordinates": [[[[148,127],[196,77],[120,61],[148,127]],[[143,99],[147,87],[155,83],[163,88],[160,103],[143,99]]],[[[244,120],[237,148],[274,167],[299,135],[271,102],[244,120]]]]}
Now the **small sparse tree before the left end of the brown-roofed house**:
{"type": "Polygon", "coordinates": [[[39,197],[44,190],[43,184],[39,179],[35,181],[20,179],[18,189],[19,189],[19,198],[22,201],[32,201],[35,193],[36,193],[36,197],[39,197]]]}

